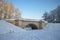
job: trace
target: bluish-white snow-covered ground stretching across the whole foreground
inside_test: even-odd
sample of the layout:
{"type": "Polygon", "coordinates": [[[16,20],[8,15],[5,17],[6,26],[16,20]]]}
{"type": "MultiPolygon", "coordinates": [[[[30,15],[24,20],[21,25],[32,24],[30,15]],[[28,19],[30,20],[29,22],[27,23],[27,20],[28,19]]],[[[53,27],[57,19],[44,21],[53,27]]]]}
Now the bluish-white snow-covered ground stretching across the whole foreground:
{"type": "Polygon", "coordinates": [[[48,23],[42,30],[23,30],[0,20],[0,40],[60,40],[60,24],[48,23]]]}

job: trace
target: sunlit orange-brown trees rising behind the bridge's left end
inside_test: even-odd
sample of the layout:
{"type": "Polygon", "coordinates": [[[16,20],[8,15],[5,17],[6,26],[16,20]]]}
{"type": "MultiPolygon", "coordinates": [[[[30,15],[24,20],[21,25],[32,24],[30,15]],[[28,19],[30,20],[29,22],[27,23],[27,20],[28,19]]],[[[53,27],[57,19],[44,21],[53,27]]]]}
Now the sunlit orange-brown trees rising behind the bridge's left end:
{"type": "Polygon", "coordinates": [[[0,19],[9,19],[14,17],[14,13],[16,17],[19,17],[20,11],[19,9],[15,9],[12,3],[7,3],[5,0],[0,0],[0,19]]]}

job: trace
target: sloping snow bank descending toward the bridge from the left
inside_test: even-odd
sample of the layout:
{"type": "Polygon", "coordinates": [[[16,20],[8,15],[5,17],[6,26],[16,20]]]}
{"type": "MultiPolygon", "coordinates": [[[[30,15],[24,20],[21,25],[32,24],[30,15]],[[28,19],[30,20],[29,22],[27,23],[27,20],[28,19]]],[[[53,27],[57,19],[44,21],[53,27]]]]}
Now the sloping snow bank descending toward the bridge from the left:
{"type": "Polygon", "coordinates": [[[20,32],[23,29],[18,28],[17,26],[10,24],[4,20],[0,20],[0,34],[11,33],[11,32],[20,32]]]}

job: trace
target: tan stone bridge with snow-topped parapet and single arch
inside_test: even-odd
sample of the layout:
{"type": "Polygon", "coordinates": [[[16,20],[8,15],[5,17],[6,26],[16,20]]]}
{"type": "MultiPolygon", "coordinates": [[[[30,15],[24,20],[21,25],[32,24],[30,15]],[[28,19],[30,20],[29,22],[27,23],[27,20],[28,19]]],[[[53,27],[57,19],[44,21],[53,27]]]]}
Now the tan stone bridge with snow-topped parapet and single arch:
{"type": "Polygon", "coordinates": [[[7,19],[8,22],[21,27],[31,27],[32,29],[42,29],[42,22],[35,19],[7,19]]]}

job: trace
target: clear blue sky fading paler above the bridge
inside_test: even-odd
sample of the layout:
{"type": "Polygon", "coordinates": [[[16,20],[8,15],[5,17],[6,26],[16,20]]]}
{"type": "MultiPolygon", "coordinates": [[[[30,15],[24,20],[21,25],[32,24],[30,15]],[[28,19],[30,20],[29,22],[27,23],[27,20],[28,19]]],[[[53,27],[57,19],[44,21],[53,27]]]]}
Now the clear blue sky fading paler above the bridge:
{"type": "Polygon", "coordinates": [[[45,11],[50,12],[60,5],[60,0],[10,0],[21,12],[22,18],[42,19],[45,11]]]}

